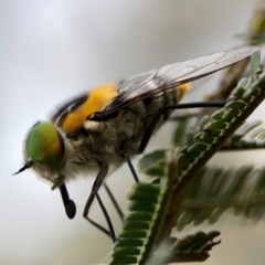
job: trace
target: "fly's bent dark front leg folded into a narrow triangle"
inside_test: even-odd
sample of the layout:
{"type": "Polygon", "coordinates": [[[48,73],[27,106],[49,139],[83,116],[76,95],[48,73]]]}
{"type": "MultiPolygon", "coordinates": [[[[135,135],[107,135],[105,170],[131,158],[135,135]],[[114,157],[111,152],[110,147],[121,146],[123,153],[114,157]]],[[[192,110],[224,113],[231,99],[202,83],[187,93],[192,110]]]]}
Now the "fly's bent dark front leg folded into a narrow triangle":
{"type": "Polygon", "coordinates": [[[104,181],[104,178],[106,177],[108,172],[108,167],[103,167],[99,171],[99,173],[97,174],[94,183],[93,183],[93,187],[92,187],[92,191],[91,191],[91,194],[87,199],[87,202],[85,204],[85,209],[84,209],[84,212],[83,212],[83,216],[89,222],[92,223],[94,226],[96,226],[98,230],[100,230],[103,233],[107,234],[108,236],[112,237],[113,242],[116,241],[116,235],[115,235],[115,231],[114,231],[114,227],[113,227],[113,223],[112,223],[112,220],[108,215],[108,212],[98,194],[98,190],[99,188],[102,187],[103,184],[103,181],[104,181]],[[104,218],[107,222],[107,226],[108,226],[108,230],[103,227],[100,224],[96,223],[95,221],[93,221],[92,219],[88,218],[88,213],[89,213],[89,209],[91,209],[91,205],[94,201],[94,199],[96,198],[102,211],[103,211],[103,214],[104,214],[104,218]]]}

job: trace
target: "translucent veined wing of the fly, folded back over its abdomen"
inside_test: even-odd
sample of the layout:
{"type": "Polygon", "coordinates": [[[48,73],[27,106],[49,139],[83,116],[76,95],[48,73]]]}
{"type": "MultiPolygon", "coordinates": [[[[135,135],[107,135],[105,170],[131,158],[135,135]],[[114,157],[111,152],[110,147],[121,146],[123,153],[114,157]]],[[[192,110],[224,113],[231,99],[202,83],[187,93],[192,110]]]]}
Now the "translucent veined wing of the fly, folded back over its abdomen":
{"type": "Polygon", "coordinates": [[[256,50],[256,46],[246,46],[218,52],[129,77],[118,85],[119,96],[114,104],[98,114],[109,115],[161,91],[210,75],[251,56],[256,50]]]}

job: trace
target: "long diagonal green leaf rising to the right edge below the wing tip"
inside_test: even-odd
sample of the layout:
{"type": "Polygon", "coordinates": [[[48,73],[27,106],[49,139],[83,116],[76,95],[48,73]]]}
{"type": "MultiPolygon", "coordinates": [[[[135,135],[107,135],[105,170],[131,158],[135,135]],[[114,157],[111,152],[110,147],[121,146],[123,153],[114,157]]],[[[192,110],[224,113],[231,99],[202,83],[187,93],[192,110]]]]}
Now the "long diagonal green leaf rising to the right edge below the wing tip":
{"type": "Polygon", "coordinates": [[[183,147],[178,153],[179,181],[163,225],[163,236],[168,236],[171,227],[180,216],[180,205],[188,192],[189,184],[209,159],[224,145],[233,132],[244,123],[254,109],[264,100],[265,74],[259,70],[259,52],[255,52],[251,60],[252,76],[240,82],[232,94],[236,100],[229,102],[224,108],[218,110],[210,118],[203,120],[190,146],[183,147]],[[256,73],[263,73],[256,76],[256,73]]]}

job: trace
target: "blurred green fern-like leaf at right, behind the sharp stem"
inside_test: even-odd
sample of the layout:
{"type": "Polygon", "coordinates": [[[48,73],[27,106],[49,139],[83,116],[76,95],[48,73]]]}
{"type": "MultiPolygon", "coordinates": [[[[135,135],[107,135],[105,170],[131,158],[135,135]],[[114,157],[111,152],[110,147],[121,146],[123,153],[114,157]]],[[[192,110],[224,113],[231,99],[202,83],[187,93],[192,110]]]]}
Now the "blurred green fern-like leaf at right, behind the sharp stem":
{"type": "Polygon", "coordinates": [[[199,225],[205,220],[214,224],[231,208],[236,215],[258,221],[265,214],[264,190],[264,168],[205,168],[190,186],[177,227],[181,231],[191,222],[199,225]]]}

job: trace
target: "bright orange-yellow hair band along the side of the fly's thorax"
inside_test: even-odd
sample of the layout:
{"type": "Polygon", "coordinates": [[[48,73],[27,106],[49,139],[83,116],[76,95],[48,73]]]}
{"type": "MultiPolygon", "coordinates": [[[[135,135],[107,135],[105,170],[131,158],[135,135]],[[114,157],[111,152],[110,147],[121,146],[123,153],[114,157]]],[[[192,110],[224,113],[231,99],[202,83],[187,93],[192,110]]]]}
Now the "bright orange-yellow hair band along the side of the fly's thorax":
{"type": "Polygon", "coordinates": [[[87,95],[86,100],[74,112],[70,113],[64,123],[63,129],[66,132],[74,132],[81,129],[91,115],[102,110],[118,95],[115,84],[107,84],[95,87],[87,95]]]}

